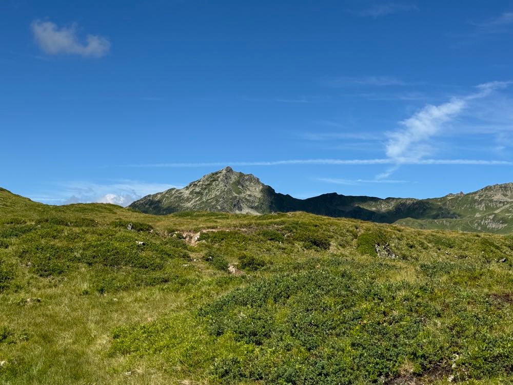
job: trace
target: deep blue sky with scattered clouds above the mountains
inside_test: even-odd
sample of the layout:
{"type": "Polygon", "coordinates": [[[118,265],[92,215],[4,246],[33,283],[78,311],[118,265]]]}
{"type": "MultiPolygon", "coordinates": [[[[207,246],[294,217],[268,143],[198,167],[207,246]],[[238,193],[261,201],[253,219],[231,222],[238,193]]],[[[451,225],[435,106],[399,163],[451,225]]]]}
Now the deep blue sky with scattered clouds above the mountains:
{"type": "Polygon", "coordinates": [[[0,186],[113,202],[226,165],[298,198],[513,181],[513,2],[0,2],[0,186]]]}

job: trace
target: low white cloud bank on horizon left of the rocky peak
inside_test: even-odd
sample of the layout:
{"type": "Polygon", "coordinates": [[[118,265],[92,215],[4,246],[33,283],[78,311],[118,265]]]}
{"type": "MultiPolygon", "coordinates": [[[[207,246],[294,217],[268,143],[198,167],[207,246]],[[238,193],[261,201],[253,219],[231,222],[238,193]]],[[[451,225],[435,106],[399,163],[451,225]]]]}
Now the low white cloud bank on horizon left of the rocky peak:
{"type": "Polygon", "coordinates": [[[122,180],[111,183],[93,183],[87,181],[69,181],[55,183],[44,194],[29,197],[33,200],[51,204],[71,203],[112,203],[128,206],[133,201],[149,194],[155,194],[169,188],[180,188],[164,183],[146,183],[122,180]]]}

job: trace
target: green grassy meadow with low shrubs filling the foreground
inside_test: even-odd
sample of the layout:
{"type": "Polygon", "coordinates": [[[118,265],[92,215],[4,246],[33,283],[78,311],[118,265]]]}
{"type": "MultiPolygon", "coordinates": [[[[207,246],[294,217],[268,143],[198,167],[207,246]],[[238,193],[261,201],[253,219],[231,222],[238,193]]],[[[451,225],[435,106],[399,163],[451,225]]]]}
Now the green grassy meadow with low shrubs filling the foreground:
{"type": "Polygon", "coordinates": [[[510,235],[1,190],[0,384],[513,383],[512,259],[510,235]]]}

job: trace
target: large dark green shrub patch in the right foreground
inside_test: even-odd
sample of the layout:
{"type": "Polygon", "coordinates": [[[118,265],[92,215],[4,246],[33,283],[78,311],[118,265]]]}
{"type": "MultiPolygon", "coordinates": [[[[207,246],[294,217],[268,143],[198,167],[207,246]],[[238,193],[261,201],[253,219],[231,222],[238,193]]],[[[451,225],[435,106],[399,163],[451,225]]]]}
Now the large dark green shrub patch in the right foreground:
{"type": "Polygon", "coordinates": [[[418,375],[444,365],[457,377],[508,373],[513,337],[494,330],[507,316],[488,299],[450,282],[379,283],[380,272],[332,264],[278,274],[205,306],[213,336],[259,347],[219,356],[213,373],[226,383],[346,385],[399,377],[406,362],[418,375]],[[465,358],[451,368],[454,354],[465,358]]]}

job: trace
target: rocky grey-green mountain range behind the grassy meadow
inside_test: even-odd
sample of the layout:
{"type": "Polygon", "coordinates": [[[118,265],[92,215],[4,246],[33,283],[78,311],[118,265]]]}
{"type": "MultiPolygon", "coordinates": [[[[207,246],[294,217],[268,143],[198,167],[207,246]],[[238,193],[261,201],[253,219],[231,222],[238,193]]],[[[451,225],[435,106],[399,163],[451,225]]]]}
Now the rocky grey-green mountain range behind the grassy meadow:
{"type": "Polygon", "coordinates": [[[418,228],[513,232],[513,183],[442,198],[374,198],[335,192],[308,199],[280,194],[231,167],[212,172],[181,189],[171,188],[133,202],[129,208],[165,215],[180,211],[270,214],[306,211],[329,217],[397,223],[418,228]]]}

